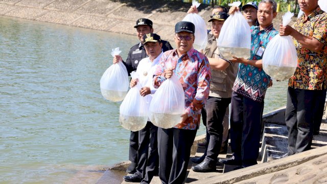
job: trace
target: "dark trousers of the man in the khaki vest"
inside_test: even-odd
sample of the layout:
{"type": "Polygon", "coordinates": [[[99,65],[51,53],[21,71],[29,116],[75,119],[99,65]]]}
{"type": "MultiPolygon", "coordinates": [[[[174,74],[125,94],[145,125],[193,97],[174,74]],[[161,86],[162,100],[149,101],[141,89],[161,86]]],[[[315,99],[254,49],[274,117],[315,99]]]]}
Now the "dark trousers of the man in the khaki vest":
{"type": "Polygon", "coordinates": [[[230,98],[209,97],[205,103],[206,110],[206,128],[209,132],[210,139],[206,152],[205,161],[216,164],[220,152],[223,138],[223,119],[226,108],[230,103],[230,98]]]}

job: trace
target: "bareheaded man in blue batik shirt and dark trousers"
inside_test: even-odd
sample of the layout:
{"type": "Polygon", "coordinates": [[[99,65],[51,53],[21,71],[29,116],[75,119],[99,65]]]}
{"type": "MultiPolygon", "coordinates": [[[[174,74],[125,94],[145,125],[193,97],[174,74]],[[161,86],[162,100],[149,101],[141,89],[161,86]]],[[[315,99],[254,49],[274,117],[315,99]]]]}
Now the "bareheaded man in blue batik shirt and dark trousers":
{"type": "Polygon", "coordinates": [[[239,166],[235,169],[257,164],[264,99],[270,82],[270,76],[262,70],[262,57],[268,42],[278,34],[272,26],[276,7],[273,0],[259,3],[260,26],[251,27],[250,58],[229,60],[240,63],[231,95],[230,147],[233,156],[219,159],[219,162],[239,166]]]}

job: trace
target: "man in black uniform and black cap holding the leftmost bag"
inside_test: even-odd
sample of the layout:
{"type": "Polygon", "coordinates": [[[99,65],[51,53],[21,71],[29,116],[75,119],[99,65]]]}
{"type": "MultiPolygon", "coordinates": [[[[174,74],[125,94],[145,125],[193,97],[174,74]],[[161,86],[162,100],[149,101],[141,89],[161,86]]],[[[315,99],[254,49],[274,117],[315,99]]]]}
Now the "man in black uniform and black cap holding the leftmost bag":
{"type": "MultiPolygon", "coordinates": [[[[137,37],[141,41],[135,44],[128,53],[126,62],[123,61],[120,55],[117,55],[113,58],[113,63],[123,61],[125,64],[128,74],[133,71],[136,71],[138,62],[141,59],[148,57],[143,45],[143,36],[147,33],[153,33],[152,21],[147,18],[139,18],[136,20],[136,25],[134,26],[137,31],[137,37]]],[[[162,42],[162,51],[172,50],[170,43],[168,41],[161,40],[162,42]]],[[[139,150],[142,152],[142,150],[139,150]]],[[[127,168],[126,172],[133,174],[135,173],[135,168],[137,167],[137,152],[138,152],[138,132],[131,131],[130,143],[129,143],[129,160],[132,162],[127,168]]]]}

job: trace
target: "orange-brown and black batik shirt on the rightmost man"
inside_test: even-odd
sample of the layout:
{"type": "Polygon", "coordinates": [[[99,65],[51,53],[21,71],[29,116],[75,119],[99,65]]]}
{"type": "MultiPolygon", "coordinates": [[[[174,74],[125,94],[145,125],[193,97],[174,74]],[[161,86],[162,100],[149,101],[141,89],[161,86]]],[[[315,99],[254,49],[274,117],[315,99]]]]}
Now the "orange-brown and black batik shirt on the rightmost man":
{"type": "MultiPolygon", "coordinates": [[[[321,0],[320,0],[321,1],[321,0]]],[[[319,52],[311,51],[294,39],[297,51],[297,67],[288,85],[298,89],[321,90],[327,88],[327,13],[319,7],[307,19],[305,14],[297,19],[294,29],[302,35],[311,36],[323,47],[319,52]]]]}

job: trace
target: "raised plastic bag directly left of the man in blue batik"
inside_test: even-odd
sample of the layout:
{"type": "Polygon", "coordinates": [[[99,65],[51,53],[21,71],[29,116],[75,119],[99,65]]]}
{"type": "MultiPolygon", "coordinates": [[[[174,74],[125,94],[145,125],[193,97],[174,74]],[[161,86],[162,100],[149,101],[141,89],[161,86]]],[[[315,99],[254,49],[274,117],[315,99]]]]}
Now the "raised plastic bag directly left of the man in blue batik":
{"type": "MultiPolygon", "coordinates": [[[[233,2],[228,6],[239,7],[241,2],[233,2]]],[[[236,11],[224,22],[217,45],[219,54],[225,59],[232,59],[232,56],[248,59],[251,48],[250,26],[242,13],[236,11]]]]}

